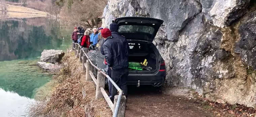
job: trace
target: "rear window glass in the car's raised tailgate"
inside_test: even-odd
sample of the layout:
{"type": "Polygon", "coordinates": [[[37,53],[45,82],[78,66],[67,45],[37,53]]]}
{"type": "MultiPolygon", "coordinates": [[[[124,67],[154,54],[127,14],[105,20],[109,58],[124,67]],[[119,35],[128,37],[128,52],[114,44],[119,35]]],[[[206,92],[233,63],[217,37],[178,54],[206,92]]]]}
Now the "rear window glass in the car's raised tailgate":
{"type": "Polygon", "coordinates": [[[138,33],[138,32],[143,32],[143,33],[149,33],[153,34],[155,29],[150,26],[140,26],[140,25],[122,25],[119,26],[118,32],[120,33],[138,33]]]}

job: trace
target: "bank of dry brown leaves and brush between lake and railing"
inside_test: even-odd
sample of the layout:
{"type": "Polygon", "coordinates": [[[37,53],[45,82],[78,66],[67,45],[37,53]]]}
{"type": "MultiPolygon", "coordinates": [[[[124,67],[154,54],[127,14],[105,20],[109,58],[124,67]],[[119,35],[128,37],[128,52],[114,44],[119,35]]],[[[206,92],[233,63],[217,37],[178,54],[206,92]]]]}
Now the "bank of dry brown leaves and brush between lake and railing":
{"type": "Polygon", "coordinates": [[[43,117],[111,117],[112,112],[104,99],[95,99],[94,82],[85,82],[85,72],[74,52],[64,56],[64,68],[53,77],[58,82],[45,104],[34,105],[30,116],[43,117]],[[83,98],[82,89],[86,92],[83,98]],[[85,110],[86,109],[86,110],[85,110]]]}

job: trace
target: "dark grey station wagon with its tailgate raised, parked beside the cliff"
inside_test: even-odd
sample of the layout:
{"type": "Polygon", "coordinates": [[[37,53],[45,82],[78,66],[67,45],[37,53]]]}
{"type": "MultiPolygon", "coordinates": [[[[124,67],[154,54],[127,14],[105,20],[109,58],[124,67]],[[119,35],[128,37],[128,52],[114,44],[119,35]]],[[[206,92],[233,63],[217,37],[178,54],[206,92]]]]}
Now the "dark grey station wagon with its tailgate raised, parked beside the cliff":
{"type": "MultiPolygon", "coordinates": [[[[129,43],[129,64],[143,64],[140,64],[141,67],[138,69],[131,68],[129,70],[127,84],[152,85],[161,88],[166,76],[165,62],[152,41],[163,20],[146,17],[121,17],[113,20],[113,22],[118,24],[119,33],[125,36],[129,43]]],[[[100,51],[102,42],[104,41],[101,39],[94,48],[90,46],[87,55],[92,59],[95,66],[106,72],[105,55],[102,55],[100,51]]],[[[93,70],[93,73],[96,76],[97,70],[93,70]]],[[[105,81],[107,84],[107,79],[105,81]]]]}

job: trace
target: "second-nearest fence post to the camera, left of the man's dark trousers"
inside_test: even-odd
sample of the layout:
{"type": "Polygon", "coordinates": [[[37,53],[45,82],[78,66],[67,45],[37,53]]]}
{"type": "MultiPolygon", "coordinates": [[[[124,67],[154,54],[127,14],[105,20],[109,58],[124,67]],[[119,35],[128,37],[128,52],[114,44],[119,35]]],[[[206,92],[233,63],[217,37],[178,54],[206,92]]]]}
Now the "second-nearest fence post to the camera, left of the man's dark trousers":
{"type": "Polygon", "coordinates": [[[96,84],[96,99],[104,98],[100,87],[104,88],[105,86],[105,76],[98,72],[97,74],[97,84],[96,84]]]}

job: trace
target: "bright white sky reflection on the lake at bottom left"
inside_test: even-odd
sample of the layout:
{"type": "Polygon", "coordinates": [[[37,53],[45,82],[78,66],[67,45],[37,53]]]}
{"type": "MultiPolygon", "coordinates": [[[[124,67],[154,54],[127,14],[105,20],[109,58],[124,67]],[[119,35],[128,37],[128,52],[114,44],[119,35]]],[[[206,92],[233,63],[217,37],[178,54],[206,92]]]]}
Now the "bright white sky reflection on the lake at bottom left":
{"type": "Polygon", "coordinates": [[[1,117],[21,117],[26,115],[25,110],[33,99],[21,97],[17,93],[6,92],[0,88],[1,117]]]}

